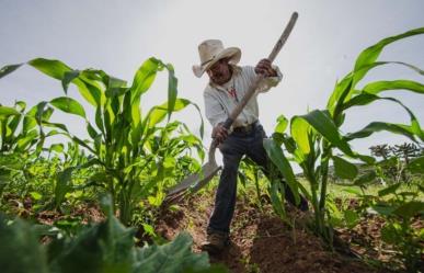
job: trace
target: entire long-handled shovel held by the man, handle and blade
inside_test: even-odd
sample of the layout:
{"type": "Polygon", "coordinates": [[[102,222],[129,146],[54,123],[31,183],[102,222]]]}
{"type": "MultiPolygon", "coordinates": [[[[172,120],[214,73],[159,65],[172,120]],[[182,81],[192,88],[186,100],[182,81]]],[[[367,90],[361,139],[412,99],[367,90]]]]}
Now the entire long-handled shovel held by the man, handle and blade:
{"type": "MultiPolygon", "coordinates": [[[[298,13],[294,12],[291,14],[290,21],[288,22],[286,29],[284,30],[282,36],[275,44],[272,53],[268,56],[268,59],[271,62],[274,61],[275,57],[282,49],[283,45],[286,43],[288,36],[290,35],[290,32],[293,27],[295,26],[296,20],[298,18],[298,13]]],[[[224,123],[224,127],[229,129],[232,125],[232,123],[237,120],[243,107],[248,104],[249,100],[252,98],[252,95],[255,93],[256,88],[259,83],[264,79],[264,76],[259,75],[255,79],[255,81],[250,86],[248,92],[244,94],[241,102],[236,106],[236,109],[231,112],[230,116],[227,118],[227,121],[224,123]]],[[[183,181],[181,181],[179,184],[174,185],[173,187],[170,187],[168,190],[167,197],[164,200],[164,204],[172,204],[177,203],[181,201],[186,194],[193,194],[196,193],[198,190],[200,190],[204,185],[206,185],[214,177],[215,174],[221,169],[215,160],[215,150],[218,146],[218,143],[214,140],[210,144],[209,153],[208,153],[208,162],[206,162],[202,170],[198,173],[194,173],[185,178],[183,181]]]]}

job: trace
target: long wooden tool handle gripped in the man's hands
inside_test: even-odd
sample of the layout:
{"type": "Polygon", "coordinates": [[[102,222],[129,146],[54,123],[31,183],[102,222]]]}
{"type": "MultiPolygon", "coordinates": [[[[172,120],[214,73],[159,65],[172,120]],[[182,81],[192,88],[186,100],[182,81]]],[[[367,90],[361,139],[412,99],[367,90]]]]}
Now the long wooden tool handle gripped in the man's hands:
{"type": "MultiPolygon", "coordinates": [[[[287,24],[286,29],[284,30],[282,36],[279,37],[279,39],[277,41],[277,43],[275,44],[273,50],[271,52],[271,54],[268,56],[268,60],[271,60],[271,62],[274,61],[275,57],[278,55],[279,50],[282,49],[282,47],[286,43],[288,36],[291,33],[293,27],[296,24],[296,21],[297,21],[298,16],[299,16],[299,14],[297,12],[294,12],[291,14],[290,21],[288,22],[288,24],[287,24]]],[[[231,127],[231,125],[233,124],[236,118],[239,116],[241,111],[244,109],[244,106],[248,104],[248,102],[250,101],[250,99],[252,98],[254,92],[256,91],[259,83],[263,79],[264,79],[264,77],[262,75],[256,77],[255,81],[253,82],[253,84],[250,86],[250,88],[249,88],[248,92],[244,94],[243,99],[241,99],[241,102],[236,106],[236,109],[231,112],[230,116],[224,123],[222,126],[225,128],[229,129],[231,127]]]]}

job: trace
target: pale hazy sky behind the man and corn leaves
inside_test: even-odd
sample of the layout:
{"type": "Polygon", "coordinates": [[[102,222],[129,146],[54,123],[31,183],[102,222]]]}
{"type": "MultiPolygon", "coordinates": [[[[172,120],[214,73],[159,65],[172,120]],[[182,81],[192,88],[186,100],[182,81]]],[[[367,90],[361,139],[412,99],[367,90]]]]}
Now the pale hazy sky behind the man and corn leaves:
{"type": "MultiPolygon", "coordinates": [[[[241,48],[240,65],[254,66],[268,56],[294,11],[299,13],[298,22],[274,62],[284,79],[259,96],[260,121],[268,135],[280,114],[290,118],[324,109],[334,83],[352,70],[363,49],[387,36],[424,26],[423,0],[0,0],[0,67],[44,57],[60,59],[75,69],[103,69],[130,83],[139,66],[154,56],[174,66],[179,96],[198,104],[204,114],[203,90],[208,79],[198,79],[192,71],[199,62],[197,45],[219,38],[226,47],[241,48]]],[[[424,35],[388,46],[379,59],[424,69],[424,35]]],[[[387,66],[373,70],[359,86],[394,79],[424,82],[423,76],[410,69],[387,66]]],[[[142,96],[142,107],[164,102],[167,84],[167,72],[158,75],[142,96]]],[[[69,94],[83,101],[76,89],[69,94]]],[[[424,124],[422,95],[405,91],[386,94],[400,99],[424,124]]],[[[3,105],[23,100],[32,106],[61,95],[60,82],[28,66],[0,80],[3,105]]],[[[198,133],[200,118],[194,107],[174,117],[198,133]]],[[[87,136],[78,117],[56,111],[53,121],[87,136]]],[[[347,112],[342,132],[360,129],[371,121],[409,123],[409,117],[399,105],[378,102],[347,112]]],[[[211,127],[207,121],[205,126],[208,146],[211,127]]],[[[403,141],[408,139],[379,133],[352,144],[368,152],[371,145],[403,141]]]]}

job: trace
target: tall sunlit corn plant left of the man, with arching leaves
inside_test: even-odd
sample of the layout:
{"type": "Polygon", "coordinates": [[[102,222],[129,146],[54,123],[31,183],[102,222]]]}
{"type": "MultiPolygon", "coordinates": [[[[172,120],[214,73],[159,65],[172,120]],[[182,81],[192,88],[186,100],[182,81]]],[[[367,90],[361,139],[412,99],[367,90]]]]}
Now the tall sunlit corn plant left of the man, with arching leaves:
{"type": "MultiPolygon", "coordinates": [[[[125,81],[111,77],[102,70],[75,70],[59,60],[37,58],[26,64],[60,80],[65,94],[68,92],[69,84],[75,84],[95,113],[93,121],[89,121],[84,107],[67,95],[41,102],[37,106],[38,116],[44,115],[50,106],[80,116],[85,121],[87,133],[90,136],[89,140],[83,140],[72,135],[65,124],[43,123],[43,126],[59,129],[92,156],[87,163],[70,167],[59,174],[56,185],[56,205],[60,205],[66,192],[71,189],[71,177],[75,170],[100,166],[102,171],[95,173],[92,180],[105,185],[114,198],[114,204],[118,204],[121,220],[128,224],[137,201],[146,197],[156,184],[152,182],[154,179],[146,177],[146,173],[152,172],[157,160],[157,155],[149,147],[151,139],[156,137],[154,134],[160,130],[159,124],[164,120],[169,121],[173,112],[192,104],[188,100],[176,98],[177,80],[172,65],[150,58],[137,70],[133,83],[127,86],[125,81]],[[142,94],[149,90],[157,72],[164,69],[169,72],[168,101],[142,112],[142,94]],[[135,192],[140,195],[135,196],[135,192]]],[[[0,78],[22,65],[3,67],[0,70],[0,78]]],[[[185,143],[186,148],[191,146],[191,143],[185,143]]]]}

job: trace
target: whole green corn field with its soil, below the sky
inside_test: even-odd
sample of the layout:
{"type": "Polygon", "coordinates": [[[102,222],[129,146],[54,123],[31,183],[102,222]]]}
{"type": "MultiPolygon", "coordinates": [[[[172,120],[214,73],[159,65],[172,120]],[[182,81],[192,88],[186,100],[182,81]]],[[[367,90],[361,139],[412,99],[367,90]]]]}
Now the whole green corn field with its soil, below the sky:
{"type": "Polygon", "coordinates": [[[264,139],[272,173],[250,160],[239,170],[231,244],[218,255],[199,249],[214,206],[216,179],[198,193],[167,202],[168,189],[207,160],[199,107],[177,94],[171,64],[147,59],[127,83],[103,70],[72,69],[35,58],[0,69],[0,79],[30,66],[60,81],[64,95],[0,105],[0,268],[2,272],[424,272],[424,130],[392,90],[424,94],[420,81],[358,83],[380,61],[385,46],[422,35],[411,30],[364,49],[334,87],[328,105],[286,118],[264,139]],[[168,72],[168,100],[142,107],[157,73],[168,72]],[[68,95],[73,86],[84,107],[68,95]],[[347,110],[389,101],[409,124],[369,120],[342,133],[347,110]],[[51,122],[59,111],[85,124],[88,138],[51,122]],[[193,133],[173,118],[196,113],[193,133]],[[93,113],[92,115],[89,113],[93,113]],[[349,141],[378,132],[404,145],[349,141]],[[55,143],[50,139],[60,136],[55,143]],[[294,166],[301,169],[295,174],[294,166]],[[309,212],[285,202],[285,183],[309,212]]]}

